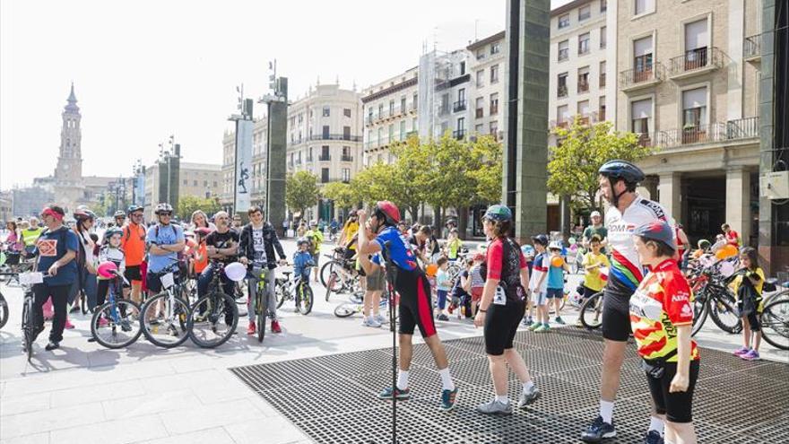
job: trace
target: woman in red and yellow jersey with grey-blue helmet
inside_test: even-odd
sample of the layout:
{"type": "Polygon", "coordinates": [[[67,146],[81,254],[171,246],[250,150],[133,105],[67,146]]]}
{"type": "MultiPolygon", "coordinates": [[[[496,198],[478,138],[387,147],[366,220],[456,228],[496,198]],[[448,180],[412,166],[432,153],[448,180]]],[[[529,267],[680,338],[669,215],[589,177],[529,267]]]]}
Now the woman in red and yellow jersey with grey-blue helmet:
{"type": "Polygon", "coordinates": [[[695,444],[691,414],[698,379],[698,348],[690,338],[690,287],[674,260],[672,227],[646,223],[633,232],[649,274],[630,299],[630,322],[655,412],[666,422],[665,442],[695,444]]]}

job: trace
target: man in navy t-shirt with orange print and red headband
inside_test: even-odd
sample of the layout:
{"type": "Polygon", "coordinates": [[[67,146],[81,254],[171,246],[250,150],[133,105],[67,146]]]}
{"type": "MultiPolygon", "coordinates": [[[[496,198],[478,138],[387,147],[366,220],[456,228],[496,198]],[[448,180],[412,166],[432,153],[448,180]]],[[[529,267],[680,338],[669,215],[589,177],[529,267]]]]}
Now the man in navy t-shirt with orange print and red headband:
{"type": "MultiPolygon", "coordinates": [[[[79,239],[74,231],[63,224],[65,212],[57,205],[48,205],[41,211],[41,219],[47,225],[47,230],[41,233],[36,242],[38,259],[36,270],[48,273],[43,283],[33,285],[35,303],[33,305],[33,325],[36,334],[44,331],[43,306],[50,297],[55,307],[55,317],[52,320],[52,329],[49,332],[47,350],[60,347],[63,340],[63,329],[67,315],[68,296],[72,284],[77,281],[77,266],[74,257],[79,250],[79,239]]],[[[35,338],[33,339],[35,341],[35,338]]]]}

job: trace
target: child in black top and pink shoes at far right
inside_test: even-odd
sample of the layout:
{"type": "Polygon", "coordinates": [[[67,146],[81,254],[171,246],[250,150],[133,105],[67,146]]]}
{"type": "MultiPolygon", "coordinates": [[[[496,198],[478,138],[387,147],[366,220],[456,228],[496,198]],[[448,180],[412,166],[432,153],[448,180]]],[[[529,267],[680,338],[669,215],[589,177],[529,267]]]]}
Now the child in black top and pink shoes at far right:
{"type": "Polygon", "coordinates": [[[740,254],[741,268],[734,278],[734,293],[737,294],[737,308],[742,318],[742,346],[734,351],[747,361],[759,360],[761,344],[761,292],[764,286],[764,271],[759,267],[759,255],[756,248],[742,248],[740,254]],[[752,345],[751,345],[752,344],[752,345]]]}

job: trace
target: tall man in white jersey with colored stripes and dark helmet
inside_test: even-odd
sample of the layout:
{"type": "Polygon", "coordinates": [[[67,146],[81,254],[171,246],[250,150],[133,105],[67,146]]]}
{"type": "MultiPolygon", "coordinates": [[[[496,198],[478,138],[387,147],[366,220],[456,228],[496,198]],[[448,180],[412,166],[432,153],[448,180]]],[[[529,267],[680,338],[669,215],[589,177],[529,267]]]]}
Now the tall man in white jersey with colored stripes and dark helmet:
{"type": "MultiPolygon", "coordinates": [[[[633,243],[633,230],[645,223],[667,221],[663,206],[638,196],[636,187],[644,173],[629,161],[608,161],[600,167],[600,190],[611,204],[605,214],[611,269],[603,290],[603,369],[600,413],[582,433],[585,442],[600,442],[616,436],[613,402],[620,387],[620,370],[630,335],[629,300],[644,277],[633,243]]],[[[663,442],[663,421],[652,415],[646,443],[663,442]]]]}

